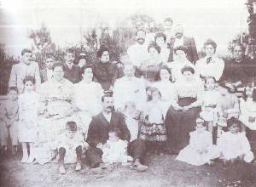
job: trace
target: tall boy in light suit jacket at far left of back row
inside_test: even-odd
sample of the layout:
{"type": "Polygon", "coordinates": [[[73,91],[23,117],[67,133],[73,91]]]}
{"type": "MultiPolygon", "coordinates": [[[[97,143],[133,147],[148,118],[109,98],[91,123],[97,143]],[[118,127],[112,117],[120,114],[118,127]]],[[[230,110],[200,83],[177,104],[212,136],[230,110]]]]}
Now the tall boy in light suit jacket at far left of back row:
{"type": "Polygon", "coordinates": [[[26,76],[35,78],[35,88],[38,91],[41,84],[39,66],[37,62],[32,61],[32,50],[28,48],[24,48],[21,51],[20,63],[12,67],[9,77],[9,88],[16,87],[18,88],[18,94],[22,94],[24,89],[23,80],[26,76]]]}

